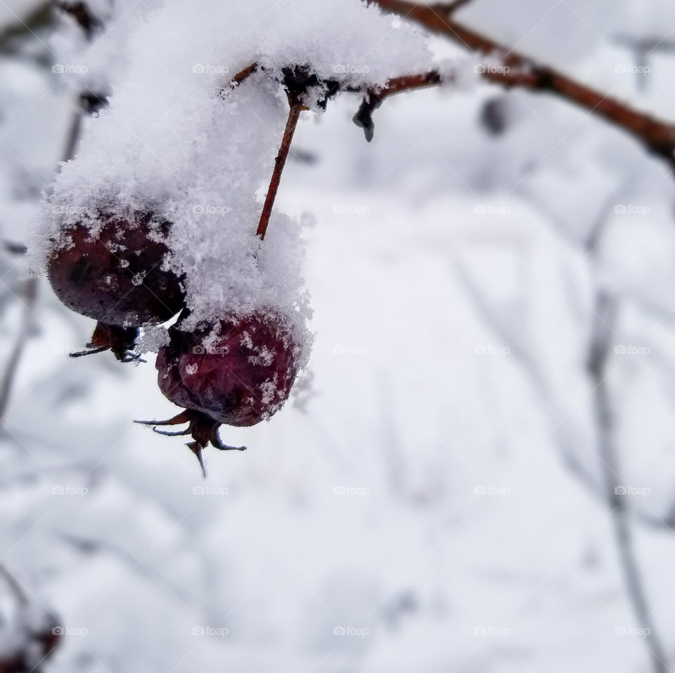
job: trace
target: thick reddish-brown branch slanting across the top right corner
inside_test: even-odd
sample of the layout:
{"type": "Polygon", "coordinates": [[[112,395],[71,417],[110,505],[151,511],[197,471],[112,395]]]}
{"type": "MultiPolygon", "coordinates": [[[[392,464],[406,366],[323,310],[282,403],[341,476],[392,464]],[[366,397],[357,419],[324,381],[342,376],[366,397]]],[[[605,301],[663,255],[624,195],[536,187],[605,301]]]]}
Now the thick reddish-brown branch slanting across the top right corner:
{"type": "Polygon", "coordinates": [[[649,150],[675,164],[675,124],[634,110],[590,86],[581,84],[546,65],[475,32],[456,21],[452,4],[417,5],[404,0],[370,0],[381,8],[418,22],[432,32],[442,33],[477,53],[501,53],[503,68],[485,68],[482,76],[505,86],[524,86],[532,91],[555,93],[591,114],[624,129],[649,150]]]}

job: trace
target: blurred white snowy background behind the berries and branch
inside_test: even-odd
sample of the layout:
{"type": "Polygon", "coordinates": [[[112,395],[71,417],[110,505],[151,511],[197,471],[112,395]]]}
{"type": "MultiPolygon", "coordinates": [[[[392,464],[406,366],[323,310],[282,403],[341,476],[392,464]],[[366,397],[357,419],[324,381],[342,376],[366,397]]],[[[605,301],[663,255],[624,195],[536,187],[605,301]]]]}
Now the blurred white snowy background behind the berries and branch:
{"type": "MultiPolygon", "coordinates": [[[[21,254],[77,77],[101,86],[53,66],[89,50],[114,65],[157,4],[92,2],[108,25],[88,44],[49,4],[0,0],[0,563],[16,582],[0,655],[25,635],[23,596],[65,634],[48,673],[671,670],[669,166],[559,99],[478,81],[390,98],[370,144],[356,98],[307,115],[279,205],[307,225],[313,391],[224,429],[250,450],[209,452],[202,481],[180,440],[131,423],[174,413],[153,363],[69,359],[92,322],[44,279],[33,296],[21,254]]],[[[666,0],[458,16],[675,119],[666,0]]]]}

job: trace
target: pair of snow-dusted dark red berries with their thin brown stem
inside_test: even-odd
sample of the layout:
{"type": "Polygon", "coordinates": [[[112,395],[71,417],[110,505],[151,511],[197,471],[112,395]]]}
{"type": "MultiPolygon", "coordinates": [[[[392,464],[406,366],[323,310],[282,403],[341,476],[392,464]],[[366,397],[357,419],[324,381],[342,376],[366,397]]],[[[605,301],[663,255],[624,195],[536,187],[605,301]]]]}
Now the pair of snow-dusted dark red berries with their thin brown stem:
{"type": "MultiPolygon", "coordinates": [[[[248,67],[220,96],[236,95],[241,81],[262,70],[248,67]]],[[[267,245],[264,238],[295,126],[300,112],[307,110],[303,101],[311,90],[314,103],[325,106],[339,88],[307,67],[287,67],[264,77],[267,84],[272,80],[283,86],[290,112],[257,228],[248,223],[256,231],[259,252],[267,245]]],[[[143,361],[140,330],[177,316],[156,367],[160,390],[183,411],[167,421],[139,422],[161,434],[191,436],[188,447],[204,470],[202,452],[207,445],[245,449],[221,442],[221,424],[253,426],[281,409],[304,365],[304,335],[298,336],[297,326],[282,311],[264,305],[245,314],[224,311],[195,320],[187,301],[188,279],[177,270],[180,265],[171,248],[172,230],[180,226],[180,221],[169,221],[156,210],[108,202],[49,237],[46,271],[65,306],[97,321],[87,350],[73,357],[110,350],[122,362],[143,361]],[[179,424],[186,428],[159,429],[179,424]]],[[[257,254],[252,257],[256,263],[257,254]]]]}

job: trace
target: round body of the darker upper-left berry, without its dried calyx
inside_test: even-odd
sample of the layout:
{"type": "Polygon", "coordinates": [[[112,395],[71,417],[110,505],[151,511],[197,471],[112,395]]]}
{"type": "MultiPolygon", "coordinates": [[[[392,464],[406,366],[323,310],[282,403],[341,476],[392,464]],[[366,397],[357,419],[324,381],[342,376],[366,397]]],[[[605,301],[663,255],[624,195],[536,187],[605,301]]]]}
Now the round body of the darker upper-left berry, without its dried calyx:
{"type": "Polygon", "coordinates": [[[58,299],[76,313],[119,327],[176,315],[184,303],[181,279],[162,270],[169,249],[161,239],[170,223],[158,223],[150,213],[98,220],[96,232],[78,223],[54,245],[47,275],[58,299]]]}

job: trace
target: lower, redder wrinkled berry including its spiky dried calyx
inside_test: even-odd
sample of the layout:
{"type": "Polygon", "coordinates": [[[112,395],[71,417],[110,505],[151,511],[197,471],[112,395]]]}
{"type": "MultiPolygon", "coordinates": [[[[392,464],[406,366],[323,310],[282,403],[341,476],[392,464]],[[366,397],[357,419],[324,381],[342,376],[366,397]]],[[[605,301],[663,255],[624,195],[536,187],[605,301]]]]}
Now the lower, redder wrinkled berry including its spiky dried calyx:
{"type": "Polygon", "coordinates": [[[225,318],[193,332],[181,324],[169,329],[157,369],[162,393],[186,411],[148,424],[188,423],[185,431],[162,433],[191,434],[188,446],[201,462],[201,450],[209,443],[233,448],[221,444],[221,424],[252,426],[281,409],[297,376],[300,347],[293,330],[269,313],[225,318]]]}

